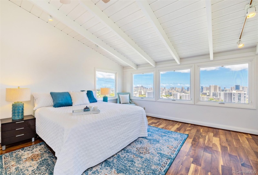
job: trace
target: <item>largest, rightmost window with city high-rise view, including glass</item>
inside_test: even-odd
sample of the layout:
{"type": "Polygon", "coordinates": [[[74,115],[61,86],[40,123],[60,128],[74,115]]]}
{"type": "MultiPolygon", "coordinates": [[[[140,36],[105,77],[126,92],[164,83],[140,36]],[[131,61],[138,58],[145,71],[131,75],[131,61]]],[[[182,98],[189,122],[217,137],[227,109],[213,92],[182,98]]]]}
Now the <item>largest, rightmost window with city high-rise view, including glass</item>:
{"type": "Polygon", "coordinates": [[[255,108],[253,59],[213,63],[198,67],[196,104],[234,108],[255,108]]]}

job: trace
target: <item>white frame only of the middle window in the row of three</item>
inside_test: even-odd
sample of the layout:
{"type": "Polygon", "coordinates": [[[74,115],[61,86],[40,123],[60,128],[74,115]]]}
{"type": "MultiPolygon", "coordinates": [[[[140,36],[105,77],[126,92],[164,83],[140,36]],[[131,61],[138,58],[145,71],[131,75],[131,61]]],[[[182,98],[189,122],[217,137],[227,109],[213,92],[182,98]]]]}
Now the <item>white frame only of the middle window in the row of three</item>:
{"type": "Polygon", "coordinates": [[[158,82],[157,82],[157,102],[166,102],[166,103],[183,103],[183,104],[195,104],[195,93],[194,93],[194,65],[185,65],[185,66],[171,66],[169,68],[159,68],[157,69],[157,76],[158,77],[158,82]],[[176,100],[171,100],[171,99],[164,99],[160,98],[160,72],[165,72],[165,71],[177,71],[177,70],[185,70],[185,69],[190,69],[190,100],[181,100],[181,99],[176,99],[176,100]]]}

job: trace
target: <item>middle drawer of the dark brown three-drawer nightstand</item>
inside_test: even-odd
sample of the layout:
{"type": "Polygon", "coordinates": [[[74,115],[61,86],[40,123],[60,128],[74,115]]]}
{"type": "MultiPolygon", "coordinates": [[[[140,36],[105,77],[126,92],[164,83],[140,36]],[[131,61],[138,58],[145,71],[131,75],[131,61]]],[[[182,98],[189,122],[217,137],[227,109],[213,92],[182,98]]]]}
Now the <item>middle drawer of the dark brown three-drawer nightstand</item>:
{"type": "Polygon", "coordinates": [[[31,132],[35,132],[36,131],[36,126],[29,126],[29,127],[25,127],[25,128],[18,128],[18,129],[14,129],[14,130],[10,130],[10,131],[5,131],[5,132],[1,132],[1,138],[8,138],[8,137],[13,137],[13,136],[18,136],[21,134],[25,134],[25,133],[31,133],[31,132]]]}

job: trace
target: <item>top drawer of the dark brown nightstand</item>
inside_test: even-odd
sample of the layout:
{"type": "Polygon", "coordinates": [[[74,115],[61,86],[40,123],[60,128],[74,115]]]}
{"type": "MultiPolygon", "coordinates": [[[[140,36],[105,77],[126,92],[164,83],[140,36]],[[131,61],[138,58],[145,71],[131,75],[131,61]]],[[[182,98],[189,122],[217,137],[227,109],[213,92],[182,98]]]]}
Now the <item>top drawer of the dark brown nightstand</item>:
{"type": "Polygon", "coordinates": [[[24,120],[24,121],[17,121],[15,123],[10,123],[10,124],[2,124],[1,125],[1,131],[10,131],[10,130],[15,130],[15,129],[19,129],[19,128],[25,128],[28,126],[33,126],[36,123],[36,120],[24,120]]]}

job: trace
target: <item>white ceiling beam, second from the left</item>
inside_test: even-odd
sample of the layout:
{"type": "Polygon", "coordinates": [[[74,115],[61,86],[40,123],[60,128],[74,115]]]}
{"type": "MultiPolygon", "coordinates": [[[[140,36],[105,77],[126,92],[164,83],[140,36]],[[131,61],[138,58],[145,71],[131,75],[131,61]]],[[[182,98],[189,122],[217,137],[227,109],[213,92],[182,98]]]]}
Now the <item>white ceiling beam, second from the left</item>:
{"type": "Polygon", "coordinates": [[[156,62],[149,57],[123,30],[121,30],[102,10],[100,10],[92,1],[80,1],[80,4],[90,11],[100,21],[104,22],[107,27],[115,32],[126,44],[128,44],[135,52],[144,58],[150,65],[156,67],[156,62]]]}

